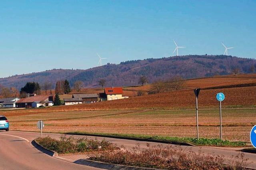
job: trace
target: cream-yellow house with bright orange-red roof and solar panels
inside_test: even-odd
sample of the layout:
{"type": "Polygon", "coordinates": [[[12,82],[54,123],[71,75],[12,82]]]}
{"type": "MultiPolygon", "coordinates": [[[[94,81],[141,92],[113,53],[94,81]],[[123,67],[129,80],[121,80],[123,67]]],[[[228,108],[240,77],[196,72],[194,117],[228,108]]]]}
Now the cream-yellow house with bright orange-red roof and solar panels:
{"type": "Polygon", "coordinates": [[[106,87],[104,93],[100,93],[100,101],[128,98],[128,96],[122,96],[122,94],[122,87],[106,87]]]}

